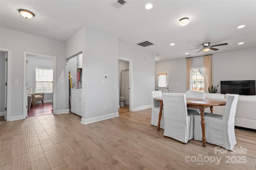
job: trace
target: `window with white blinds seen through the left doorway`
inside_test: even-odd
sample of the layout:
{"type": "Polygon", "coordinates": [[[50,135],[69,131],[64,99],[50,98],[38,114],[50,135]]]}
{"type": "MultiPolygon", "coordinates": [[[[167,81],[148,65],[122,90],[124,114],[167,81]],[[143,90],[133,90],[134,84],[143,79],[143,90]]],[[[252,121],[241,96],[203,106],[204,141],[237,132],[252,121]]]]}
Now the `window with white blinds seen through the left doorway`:
{"type": "Polygon", "coordinates": [[[36,90],[35,92],[53,91],[53,70],[36,68],[36,90]]]}

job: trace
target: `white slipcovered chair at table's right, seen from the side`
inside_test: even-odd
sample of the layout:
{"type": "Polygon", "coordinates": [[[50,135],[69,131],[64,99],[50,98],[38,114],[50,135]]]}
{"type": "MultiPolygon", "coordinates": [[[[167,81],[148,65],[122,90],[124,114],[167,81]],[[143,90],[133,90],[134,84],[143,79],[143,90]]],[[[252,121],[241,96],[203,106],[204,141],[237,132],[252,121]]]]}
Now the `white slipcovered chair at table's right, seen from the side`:
{"type": "MultiPolygon", "coordinates": [[[[236,145],[234,123],[238,96],[228,96],[223,115],[204,113],[206,142],[233,150],[236,145]]],[[[194,122],[194,139],[202,141],[201,116],[195,115],[194,122]]]]}

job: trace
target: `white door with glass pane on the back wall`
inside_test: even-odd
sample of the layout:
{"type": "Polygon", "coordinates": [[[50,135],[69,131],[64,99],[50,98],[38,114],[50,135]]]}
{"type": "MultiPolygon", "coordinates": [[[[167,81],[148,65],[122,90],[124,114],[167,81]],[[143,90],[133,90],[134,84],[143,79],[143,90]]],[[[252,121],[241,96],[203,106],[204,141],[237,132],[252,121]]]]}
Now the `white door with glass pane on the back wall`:
{"type": "Polygon", "coordinates": [[[169,70],[156,71],[156,90],[168,93],[169,90],[169,70]]]}

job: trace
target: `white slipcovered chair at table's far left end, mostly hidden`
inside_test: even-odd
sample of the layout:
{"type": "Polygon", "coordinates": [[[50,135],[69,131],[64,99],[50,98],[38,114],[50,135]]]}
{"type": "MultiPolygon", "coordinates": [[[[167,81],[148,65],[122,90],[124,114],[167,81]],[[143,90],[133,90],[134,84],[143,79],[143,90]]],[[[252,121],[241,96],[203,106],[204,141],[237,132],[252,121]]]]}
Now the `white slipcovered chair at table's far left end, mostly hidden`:
{"type": "MultiPolygon", "coordinates": [[[[162,97],[162,91],[152,91],[151,92],[151,125],[158,125],[159,111],[160,111],[160,101],[154,100],[156,97],[162,97]]],[[[164,129],[164,107],[162,108],[162,118],[160,121],[160,128],[164,129]]]]}

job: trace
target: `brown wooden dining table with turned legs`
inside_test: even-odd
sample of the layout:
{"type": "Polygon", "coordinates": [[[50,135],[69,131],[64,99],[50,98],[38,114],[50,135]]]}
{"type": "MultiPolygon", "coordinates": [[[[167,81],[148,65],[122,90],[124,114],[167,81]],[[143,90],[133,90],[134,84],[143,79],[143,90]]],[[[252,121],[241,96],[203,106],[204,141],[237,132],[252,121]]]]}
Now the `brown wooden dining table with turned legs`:
{"type": "MultiPolygon", "coordinates": [[[[156,97],[154,100],[160,101],[160,111],[158,118],[157,131],[160,129],[160,121],[162,117],[163,99],[162,97],[156,97]]],[[[212,99],[196,99],[196,98],[186,98],[187,107],[196,108],[200,110],[201,114],[201,127],[202,127],[202,142],[203,147],[206,147],[206,137],[205,137],[205,122],[204,122],[204,110],[210,107],[211,113],[214,113],[213,106],[224,106],[226,102],[212,99]]]]}

